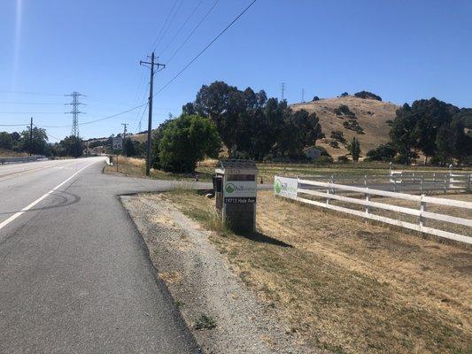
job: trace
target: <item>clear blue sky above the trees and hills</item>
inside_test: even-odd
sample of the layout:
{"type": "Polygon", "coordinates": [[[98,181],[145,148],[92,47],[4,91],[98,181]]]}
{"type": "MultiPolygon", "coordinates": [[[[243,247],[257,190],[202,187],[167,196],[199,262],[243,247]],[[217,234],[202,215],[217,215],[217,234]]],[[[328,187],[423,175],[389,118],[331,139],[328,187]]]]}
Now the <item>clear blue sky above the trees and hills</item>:
{"type": "MultiPolygon", "coordinates": [[[[145,104],[149,69],[140,60],[155,49],[166,64],[155,75],[158,91],[250,3],[2,0],[0,131],[22,130],[33,117],[39,127],[66,126],[48,127],[50,142],[70,135],[65,95],[73,91],[87,104],[80,123],[145,104]]],[[[469,0],[257,0],[154,97],[153,127],[213,81],[279,98],[284,82],[290,104],[302,89],[305,100],[365,89],[394,104],[436,96],[472,107],[471,19],[469,0]]],[[[80,133],[109,136],[121,123],[134,133],[140,120],[145,130],[147,112],[136,109],[81,125],[80,133]]]]}

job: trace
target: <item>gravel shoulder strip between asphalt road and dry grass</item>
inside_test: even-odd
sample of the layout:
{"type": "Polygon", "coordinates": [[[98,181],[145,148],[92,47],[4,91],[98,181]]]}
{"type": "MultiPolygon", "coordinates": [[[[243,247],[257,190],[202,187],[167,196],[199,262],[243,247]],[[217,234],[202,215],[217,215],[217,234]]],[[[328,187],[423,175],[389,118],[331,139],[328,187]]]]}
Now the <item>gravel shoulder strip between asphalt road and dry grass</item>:
{"type": "Polygon", "coordinates": [[[122,196],[152,263],[205,353],[321,353],[303,346],[275,310],[231,271],[209,232],[159,195],[122,196]],[[202,315],[216,327],[196,329],[202,315]]]}

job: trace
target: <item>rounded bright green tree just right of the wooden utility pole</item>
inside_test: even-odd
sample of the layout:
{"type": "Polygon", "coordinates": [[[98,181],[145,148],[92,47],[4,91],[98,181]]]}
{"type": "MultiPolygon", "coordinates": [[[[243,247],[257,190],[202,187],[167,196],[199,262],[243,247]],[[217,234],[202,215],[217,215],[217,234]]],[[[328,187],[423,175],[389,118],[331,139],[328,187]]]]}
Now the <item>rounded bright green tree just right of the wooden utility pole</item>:
{"type": "Polygon", "coordinates": [[[216,158],[221,138],[213,123],[201,116],[182,115],[171,120],[159,140],[159,164],[166,171],[190,173],[197,161],[216,158]]]}

